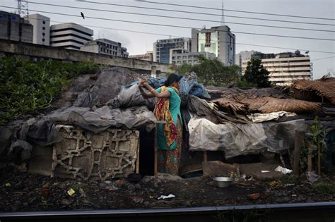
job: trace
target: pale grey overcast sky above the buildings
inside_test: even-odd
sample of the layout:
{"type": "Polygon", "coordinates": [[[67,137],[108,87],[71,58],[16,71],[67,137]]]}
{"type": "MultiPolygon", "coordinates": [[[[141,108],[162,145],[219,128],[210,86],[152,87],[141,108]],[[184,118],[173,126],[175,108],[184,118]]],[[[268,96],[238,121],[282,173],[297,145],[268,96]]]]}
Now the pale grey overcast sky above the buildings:
{"type": "MultiPolygon", "coordinates": [[[[104,4],[92,4],[86,1],[52,1],[52,0],[31,0],[29,1],[29,13],[40,13],[48,16],[52,20],[52,24],[57,23],[78,23],[87,25],[94,30],[94,39],[106,38],[117,42],[121,42],[124,47],[127,47],[129,54],[144,54],[146,51],[153,50],[153,42],[157,39],[166,39],[169,37],[191,37],[191,29],[181,27],[165,27],[159,25],[144,25],[136,23],[125,23],[112,20],[99,20],[88,17],[136,21],[143,23],[158,23],[164,25],[179,25],[186,27],[204,27],[221,25],[221,11],[206,9],[206,8],[189,8],[184,6],[168,6],[162,4],[153,4],[146,1],[134,0],[90,0],[99,3],[123,4],[128,6],[140,6],[145,8],[129,8],[124,6],[112,6],[104,4]],[[47,6],[34,4],[56,4],[61,6],[72,6],[81,8],[69,8],[60,6],[47,6]],[[88,8],[88,9],[83,9],[88,8]],[[172,11],[158,11],[148,8],[161,8],[178,11],[209,13],[211,15],[199,15],[195,13],[182,13],[172,11]],[[176,18],[160,18],[153,16],[131,15],[117,12],[104,12],[90,9],[102,9],[107,11],[123,11],[131,13],[143,13],[146,15],[158,16],[174,16],[184,18],[197,18],[202,20],[182,20],[176,18]],[[52,13],[44,13],[37,11],[47,11],[52,13],[65,13],[73,16],[57,15],[52,13]],[[86,16],[85,20],[80,17],[81,11],[86,16]],[[78,16],[78,17],[74,17],[78,16]],[[214,22],[217,21],[217,22],[214,22]],[[97,27],[92,27],[97,26],[97,27]],[[119,29],[119,30],[113,30],[119,29]],[[135,32],[129,32],[129,31],[135,32]],[[136,33],[136,32],[151,32],[158,35],[136,33]]],[[[151,0],[160,3],[184,4],[191,6],[200,6],[208,8],[221,9],[221,0],[151,0]]],[[[271,16],[256,13],[241,13],[234,11],[225,11],[225,25],[230,27],[234,32],[249,32],[251,34],[235,33],[236,35],[236,52],[245,50],[256,50],[264,53],[278,53],[283,51],[295,51],[299,49],[302,54],[305,51],[310,51],[309,55],[313,63],[314,78],[321,78],[322,75],[335,71],[335,41],[318,40],[318,39],[335,39],[335,1],[334,0],[224,0],[224,8],[227,10],[249,11],[260,13],[285,14],[293,16],[307,16],[317,18],[331,18],[332,20],[311,19],[311,18],[292,18],[287,16],[271,16]],[[228,16],[242,16],[248,18],[233,18],[228,16]],[[298,21],[303,23],[322,23],[330,25],[312,25],[300,23],[283,23],[266,20],[252,20],[250,18],[265,18],[272,20],[287,20],[298,21]],[[253,25],[238,25],[232,23],[254,24],[254,25],[272,25],[283,27],[295,27],[314,30],[331,30],[332,32],[312,31],[312,30],[291,30],[275,27],[259,27],[253,25]],[[269,37],[257,34],[270,35],[286,35],[295,37],[311,37],[317,39],[298,39],[287,37],[269,37]],[[259,45],[268,46],[261,47],[259,45]],[[287,49],[277,49],[271,47],[283,47],[287,49]],[[315,51],[325,51],[329,53],[321,53],[315,51]],[[321,59],[322,58],[322,59],[321,59]]],[[[14,12],[14,8],[4,8],[4,6],[16,7],[16,0],[0,0],[0,10],[14,12]]]]}

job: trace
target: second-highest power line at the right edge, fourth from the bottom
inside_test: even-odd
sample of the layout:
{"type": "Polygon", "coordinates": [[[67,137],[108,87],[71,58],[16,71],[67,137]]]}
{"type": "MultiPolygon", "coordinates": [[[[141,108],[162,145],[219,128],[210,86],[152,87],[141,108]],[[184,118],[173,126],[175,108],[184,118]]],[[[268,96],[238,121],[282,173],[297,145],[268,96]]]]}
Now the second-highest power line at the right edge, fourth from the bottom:
{"type": "MultiPolygon", "coordinates": [[[[110,5],[110,6],[122,6],[122,7],[129,7],[129,8],[144,8],[144,9],[152,9],[152,10],[159,10],[159,11],[192,13],[192,14],[207,15],[207,16],[222,16],[221,14],[213,14],[213,13],[200,13],[200,12],[195,12],[195,11],[180,11],[180,10],[172,10],[172,9],[167,9],[167,8],[149,8],[149,7],[142,7],[142,6],[128,6],[128,5],[123,5],[123,4],[112,4],[112,3],[104,3],[104,2],[97,2],[97,1],[81,1],[81,2],[91,3],[91,4],[110,5]]],[[[308,25],[331,25],[331,26],[334,26],[334,24],[307,23],[307,22],[297,22],[297,21],[290,21],[290,20],[276,20],[276,19],[268,19],[268,18],[251,18],[251,17],[243,17],[243,16],[225,16],[225,17],[247,18],[247,19],[254,19],[254,20],[266,20],[266,21],[281,22],[281,23],[300,23],[300,24],[308,24],[308,25]]]]}

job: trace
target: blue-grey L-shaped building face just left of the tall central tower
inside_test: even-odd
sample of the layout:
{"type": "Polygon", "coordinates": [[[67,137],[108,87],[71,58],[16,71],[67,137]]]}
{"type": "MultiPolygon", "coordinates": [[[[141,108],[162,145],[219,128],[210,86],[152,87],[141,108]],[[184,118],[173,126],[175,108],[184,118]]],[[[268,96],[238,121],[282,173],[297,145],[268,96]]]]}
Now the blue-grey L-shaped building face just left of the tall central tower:
{"type": "Polygon", "coordinates": [[[191,50],[191,39],[176,38],[176,39],[160,39],[153,43],[153,61],[158,63],[170,63],[170,49],[185,49],[191,50]]]}

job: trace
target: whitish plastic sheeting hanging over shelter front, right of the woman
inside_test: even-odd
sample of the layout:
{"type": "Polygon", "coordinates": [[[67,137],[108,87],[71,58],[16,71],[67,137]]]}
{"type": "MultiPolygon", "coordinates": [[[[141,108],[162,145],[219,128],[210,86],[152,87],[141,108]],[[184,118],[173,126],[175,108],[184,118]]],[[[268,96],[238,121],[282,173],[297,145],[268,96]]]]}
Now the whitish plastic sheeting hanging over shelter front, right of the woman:
{"type": "Polygon", "coordinates": [[[206,118],[192,117],[188,123],[191,151],[225,151],[226,158],[281,152],[294,146],[295,130],[305,129],[305,120],[283,123],[215,124],[206,118]]]}

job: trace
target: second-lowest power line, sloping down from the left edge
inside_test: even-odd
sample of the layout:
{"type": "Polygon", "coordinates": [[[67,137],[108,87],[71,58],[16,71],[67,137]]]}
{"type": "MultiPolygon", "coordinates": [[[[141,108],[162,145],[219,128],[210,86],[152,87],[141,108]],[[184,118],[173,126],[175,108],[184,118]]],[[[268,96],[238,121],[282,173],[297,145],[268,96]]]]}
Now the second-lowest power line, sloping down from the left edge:
{"type": "MultiPolygon", "coordinates": [[[[13,8],[13,7],[8,7],[8,6],[3,6],[3,7],[4,8],[13,8]]],[[[54,13],[54,12],[49,12],[49,11],[37,11],[37,10],[30,10],[30,11],[50,13],[50,14],[56,14],[56,15],[61,15],[61,16],[81,17],[81,16],[74,16],[74,15],[69,15],[69,14],[65,14],[65,13],[54,13]]],[[[199,29],[198,27],[189,27],[189,26],[182,26],[182,25],[167,25],[167,24],[158,24],[158,23],[143,23],[143,22],[136,22],[136,21],[129,21],[129,20],[118,20],[118,19],[112,19],[112,18],[98,18],[98,17],[90,17],[90,16],[86,16],[86,18],[93,18],[93,19],[98,19],[98,20],[112,20],[112,21],[117,21],[117,22],[136,23],[136,24],[142,24],[142,25],[157,25],[157,26],[165,26],[165,27],[179,27],[179,28],[199,29]]],[[[227,31],[224,31],[224,30],[215,30],[215,29],[206,29],[206,30],[217,31],[217,32],[227,32],[227,31]]],[[[288,35],[271,35],[271,34],[263,34],[263,33],[236,32],[236,31],[234,33],[245,34],[245,35],[285,37],[285,38],[293,38],[293,39],[313,39],[313,40],[335,41],[335,39],[321,39],[321,38],[298,37],[298,36],[288,36],[288,35]]]]}

